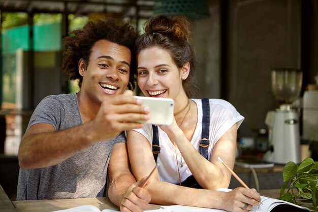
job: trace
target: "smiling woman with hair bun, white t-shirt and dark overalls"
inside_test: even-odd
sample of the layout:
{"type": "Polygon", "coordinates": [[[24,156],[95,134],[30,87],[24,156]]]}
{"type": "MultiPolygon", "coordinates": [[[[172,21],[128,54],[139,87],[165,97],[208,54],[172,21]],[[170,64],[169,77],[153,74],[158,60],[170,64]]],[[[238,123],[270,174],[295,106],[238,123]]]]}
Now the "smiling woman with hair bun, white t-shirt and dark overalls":
{"type": "Polygon", "coordinates": [[[140,89],[147,97],[173,99],[175,109],[169,126],[127,132],[132,170],[140,179],[160,164],[147,186],[152,203],[247,211],[260,202],[255,189],[216,191],[228,188],[231,179],[217,157],[233,168],[237,128],[244,117],[224,100],[188,99],[195,75],[188,28],[182,16],[156,16],[137,40],[140,89]]]}

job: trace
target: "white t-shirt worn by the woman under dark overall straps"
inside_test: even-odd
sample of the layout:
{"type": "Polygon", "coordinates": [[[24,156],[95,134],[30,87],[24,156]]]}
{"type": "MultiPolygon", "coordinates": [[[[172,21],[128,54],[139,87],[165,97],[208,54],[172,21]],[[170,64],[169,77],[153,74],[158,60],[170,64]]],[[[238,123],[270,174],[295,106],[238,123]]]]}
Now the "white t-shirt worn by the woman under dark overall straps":
{"type": "MultiPolygon", "coordinates": [[[[195,129],[195,133],[191,140],[191,144],[199,152],[199,142],[201,139],[202,132],[202,102],[201,99],[191,99],[197,104],[198,107],[198,123],[195,129]]],[[[213,146],[218,141],[218,139],[224,135],[235,123],[237,127],[241,125],[244,117],[240,115],[232,104],[221,99],[209,99],[210,102],[210,129],[209,129],[209,140],[210,146],[208,147],[208,159],[211,158],[211,153],[213,146]]],[[[135,131],[144,135],[152,146],[152,126],[150,124],[145,124],[142,129],[134,129],[135,131]]],[[[158,136],[160,141],[161,152],[158,154],[157,163],[160,164],[158,167],[158,173],[160,180],[166,181],[173,184],[179,184],[179,174],[176,162],[176,155],[174,150],[174,145],[170,141],[168,135],[158,127],[158,136]]],[[[183,166],[181,163],[181,154],[179,149],[176,148],[179,171],[181,176],[181,181],[185,180],[188,176],[192,175],[186,163],[183,161],[183,166]]]]}

